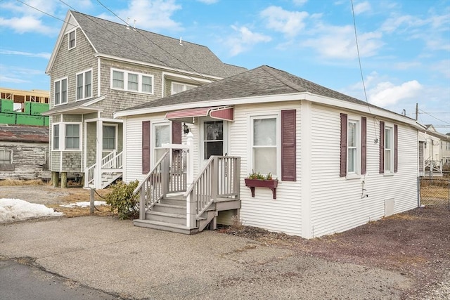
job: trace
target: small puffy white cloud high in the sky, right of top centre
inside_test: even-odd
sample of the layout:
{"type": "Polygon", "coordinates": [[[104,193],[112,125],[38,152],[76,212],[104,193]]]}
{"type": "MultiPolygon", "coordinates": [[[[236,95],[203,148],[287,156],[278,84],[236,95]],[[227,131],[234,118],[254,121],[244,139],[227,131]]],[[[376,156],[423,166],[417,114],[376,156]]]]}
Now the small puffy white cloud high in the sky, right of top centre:
{"type": "Polygon", "coordinates": [[[260,15],[267,21],[267,28],[282,32],[287,37],[295,37],[304,29],[304,19],[309,14],[304,11],[285,11],[279,6],[269,6],[260,15]]]}

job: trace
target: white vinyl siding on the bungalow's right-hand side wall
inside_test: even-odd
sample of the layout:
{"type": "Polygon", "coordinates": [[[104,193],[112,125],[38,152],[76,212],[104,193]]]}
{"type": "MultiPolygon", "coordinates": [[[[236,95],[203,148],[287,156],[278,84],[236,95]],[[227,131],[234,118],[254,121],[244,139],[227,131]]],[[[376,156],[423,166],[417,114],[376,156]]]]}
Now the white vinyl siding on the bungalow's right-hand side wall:
{"type": "Polygon", "coordinates": [[[399,173],[378,173],[380,128],[367,117],[367,174],[360,179],[338,176],[340,113],[342,110],[312,105],[311,116],[311,231],[310,237],[337,233],[384,216],[385,200],[394,195],[395,213],[417,206],[417,131],[399,126],[399,173]],[[364,180],[364,185],[362,181],[364,180]],[[363,195],[366,188],[368,197],[363,195]]]}

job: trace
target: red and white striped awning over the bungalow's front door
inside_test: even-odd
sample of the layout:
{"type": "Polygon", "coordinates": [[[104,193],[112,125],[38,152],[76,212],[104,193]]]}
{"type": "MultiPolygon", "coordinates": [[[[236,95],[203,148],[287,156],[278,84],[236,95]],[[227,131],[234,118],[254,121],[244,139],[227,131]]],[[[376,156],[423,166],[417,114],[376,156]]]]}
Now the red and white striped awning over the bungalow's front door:
{"type": "Polygon", "coordinates": [[[166,119],[171,121],[185,122],[193,124],[194,117],[212,117],[213,119],[223,119],[226,121],[234,120],[234,111],[232,106],[213,106],[190,108],[186,110],[176,110],[167,112],[166,119]]]}

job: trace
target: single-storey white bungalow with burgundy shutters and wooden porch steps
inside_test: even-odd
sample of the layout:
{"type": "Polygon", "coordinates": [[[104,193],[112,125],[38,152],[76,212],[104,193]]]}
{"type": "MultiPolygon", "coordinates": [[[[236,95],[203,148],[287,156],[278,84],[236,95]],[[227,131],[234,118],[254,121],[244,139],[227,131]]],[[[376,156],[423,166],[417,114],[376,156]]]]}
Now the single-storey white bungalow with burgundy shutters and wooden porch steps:
{"type": "Polygon", "coordinates": [[[136,226],[195,233],[235,216],[310,238],[418,206],[423,126],[273,67],[114,117],[124,125],[124,181],[141,183],[136,226]],[[169,144],[181,134],[172,121],[189,145],[169,144]],[[246,180],[251,173],[273,179],[246,180]]]}

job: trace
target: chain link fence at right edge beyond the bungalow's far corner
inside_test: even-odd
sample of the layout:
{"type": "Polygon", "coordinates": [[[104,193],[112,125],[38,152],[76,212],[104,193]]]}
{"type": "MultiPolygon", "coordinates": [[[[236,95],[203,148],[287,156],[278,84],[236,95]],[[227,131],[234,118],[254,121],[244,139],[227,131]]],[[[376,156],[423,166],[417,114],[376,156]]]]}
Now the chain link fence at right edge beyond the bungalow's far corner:
{"type": "Polygon", "coordinates": [[[450,209],[450,179],[420,178],[420,204],[444,205],[450,209]]]}

